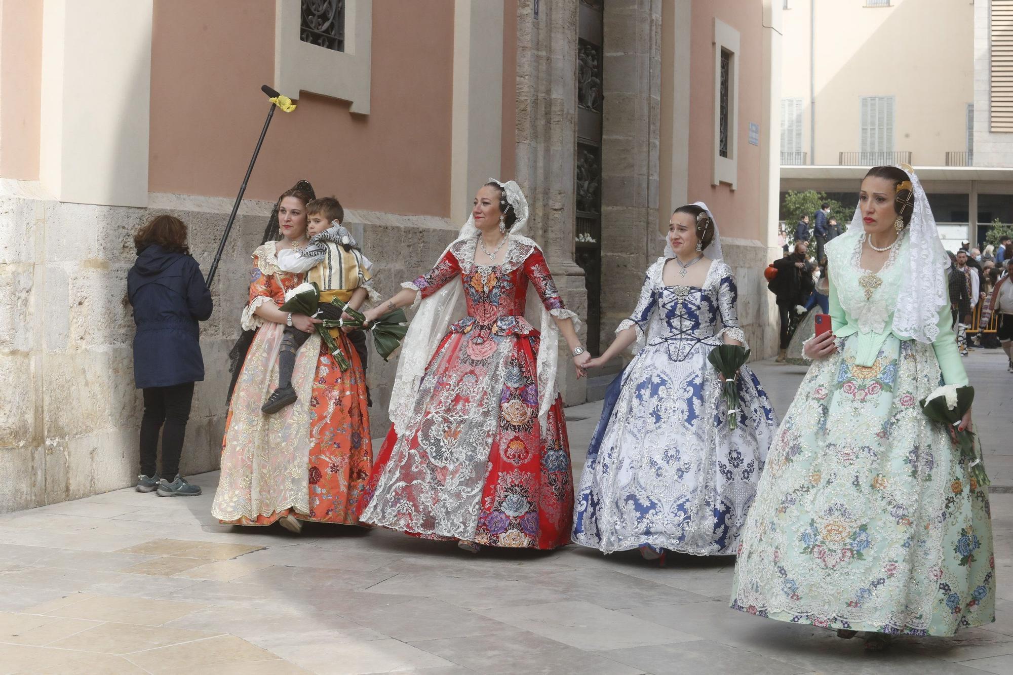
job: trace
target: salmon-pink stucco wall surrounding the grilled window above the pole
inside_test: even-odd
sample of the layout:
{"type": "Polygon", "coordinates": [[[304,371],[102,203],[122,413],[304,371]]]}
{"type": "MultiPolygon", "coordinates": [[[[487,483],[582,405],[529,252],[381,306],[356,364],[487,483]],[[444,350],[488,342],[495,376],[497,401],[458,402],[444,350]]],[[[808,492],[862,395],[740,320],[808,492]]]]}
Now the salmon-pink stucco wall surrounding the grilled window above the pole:
{"type": "MultiPolygon", "coordinates": [[[[274,79],[274,0],[155,0],[152,192],[232,197],[274,79]]],[[[370,115],[302,94],[277,114],[246,197],[300,178],[350,208],[450,211],[454,3],[374,0],[370,115]]]]}

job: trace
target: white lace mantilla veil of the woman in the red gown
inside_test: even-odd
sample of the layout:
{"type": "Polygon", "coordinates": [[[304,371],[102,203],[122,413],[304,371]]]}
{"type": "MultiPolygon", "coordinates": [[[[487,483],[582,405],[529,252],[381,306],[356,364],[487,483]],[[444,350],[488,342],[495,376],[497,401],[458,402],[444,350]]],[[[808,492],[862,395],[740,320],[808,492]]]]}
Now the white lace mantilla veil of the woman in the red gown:
{"type": "MultiPolygon", "coordinates": [[[[521,186],[513,180],[502,182],[495,178],[490,178],[489,182],[495,182],[506,196],[506,202],[514,208],[517,214],[517,221],[508,234],[508,258],[510,250],[517,244],[526,247],[539,248],[534,240],[522,236],[519,232],[528,222],[528,201],[521,191],[521,186]]],[[[461,227],[457,238],[454,239],[441,253],[439,259],[447,254],[454,244],[475,238],[478,230],[475,228],[475,221],[472,216],[468,216],[468,221],[461,227]]],[[[439,260],[438,260],[439,261],[439,260]]],[[[462,267],[471,260],[461,260],[462,267]]],[[[401,284],[403,288],[414,288],[410,282],[401,284]]],[[[390,396],[390,419],[394,424],[394,431],[398,435],[404,433],[408,420],[411,417],[415,401],[415,394],[418,386],[425,374],[425,367],[440,347],[440,343],[447,334],[454,319],[462,314],[461,307],[464,306],[464,291],[458,280],[453,280],[438,290],[427,298],[419,300],[421,295],[416,296],[415,306],[418,310],[408,324],[408,332],[401,344],[401,357],[397,363],[397,375],[394,378],[394,386],[390,396]]],[[[561,317],[568,317],[573,320],[574,327],[577,327],[579,320],[576,314],[568,310],[553,310],[561,317]]],[[[543,425],[546,415],[552,402],[556,398],[556,369],[559,360],[559,328],[545,306],[541,303],[536,293],[528,293],[528,303],[525,314],[529,321],[539,328],[542,338],[537,355],[538,369],[538,417],[543,425]],[[537,307],[536,307],[537,305],[537,307]],[[534,316],[539,316],[538,323],[531,321],[534,316]]]]}

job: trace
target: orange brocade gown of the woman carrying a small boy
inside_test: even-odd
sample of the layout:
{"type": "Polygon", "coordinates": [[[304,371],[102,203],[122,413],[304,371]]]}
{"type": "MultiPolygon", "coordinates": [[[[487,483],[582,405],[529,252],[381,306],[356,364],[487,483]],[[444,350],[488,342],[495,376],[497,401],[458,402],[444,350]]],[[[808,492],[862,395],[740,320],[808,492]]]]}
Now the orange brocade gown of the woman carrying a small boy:
{"type": "Polygon", "coordinates": [[[268,242],[253,254],[250,304],[243,326],[260,323],[236,382],[222,443],[222,474],[212,513],[224,523],[269,525],[292,513],[300,520],[358,524],[356,511],[370,477],[372,443],[366,377],[344,336],[338,347],[352,366],[338,368],[317,335],[296,355],[292,384],[299,399],[275,415],[260,405],[278,385],[282,324],[253,310],[281,305],[303,281],[282,272],[268,242]]]}

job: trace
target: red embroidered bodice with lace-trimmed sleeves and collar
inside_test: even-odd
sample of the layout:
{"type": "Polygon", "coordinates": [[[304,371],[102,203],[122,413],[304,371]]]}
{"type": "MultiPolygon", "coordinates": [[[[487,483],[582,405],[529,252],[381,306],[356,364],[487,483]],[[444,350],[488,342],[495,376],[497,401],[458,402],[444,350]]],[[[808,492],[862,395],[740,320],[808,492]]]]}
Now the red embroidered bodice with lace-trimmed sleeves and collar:
{"type": "Polygon", "coordinates": [[[455,242],[433,270],[402,286],[417,290],[426,298],[460,277],[467,315],[451,326],[455,332],[480,329],[496,335],[531,333],[534,328],[524,316],[529,281],[550,313],[569,314],[545,256],[534,241],[511,237],[506,258],[495,266],[475,265],[477,242],[476,237],[455,242]]]}

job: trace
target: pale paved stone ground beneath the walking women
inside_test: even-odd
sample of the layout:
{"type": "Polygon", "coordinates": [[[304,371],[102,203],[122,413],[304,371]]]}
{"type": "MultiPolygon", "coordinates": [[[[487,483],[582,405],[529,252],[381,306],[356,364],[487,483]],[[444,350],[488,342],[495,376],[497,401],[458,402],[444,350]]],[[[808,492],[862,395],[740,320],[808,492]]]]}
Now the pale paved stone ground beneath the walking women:
{"type": "MultiPolygon", "coordinates": [[[[995,480],[998,621],[858,640],[727,608],[733,559],[483,550],[387,531],[221,526],[119,491],[0,521],[0,673],[1013,673],[1013,375],[967,360],[995,480]]],[[[779,413],[803,368],[757,365],[779,413]]],[[[600,404],[567,409],[575,467],[600,404]]]]}

